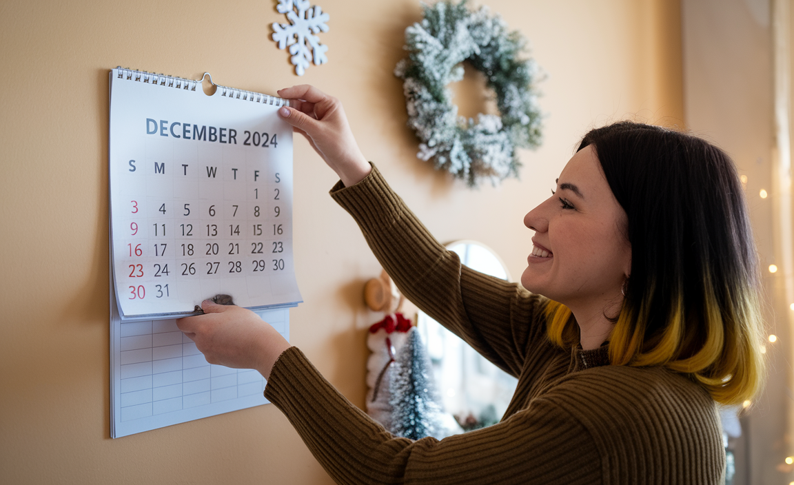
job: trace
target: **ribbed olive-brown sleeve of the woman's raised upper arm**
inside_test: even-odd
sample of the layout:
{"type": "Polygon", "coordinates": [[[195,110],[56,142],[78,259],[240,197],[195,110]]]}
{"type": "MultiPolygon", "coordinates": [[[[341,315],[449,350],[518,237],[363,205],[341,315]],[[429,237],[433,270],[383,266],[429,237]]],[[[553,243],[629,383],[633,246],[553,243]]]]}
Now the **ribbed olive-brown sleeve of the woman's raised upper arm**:
{"type": "Polygon", "coordinates": [[[545,336],[544,298],[463,265],[430,234],[377,167],[331,195],[358,223],[399,290],[422,311],[512,375],[528,346],[545,336]]]}

